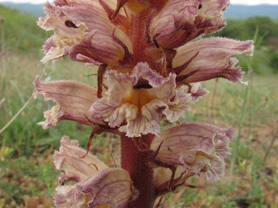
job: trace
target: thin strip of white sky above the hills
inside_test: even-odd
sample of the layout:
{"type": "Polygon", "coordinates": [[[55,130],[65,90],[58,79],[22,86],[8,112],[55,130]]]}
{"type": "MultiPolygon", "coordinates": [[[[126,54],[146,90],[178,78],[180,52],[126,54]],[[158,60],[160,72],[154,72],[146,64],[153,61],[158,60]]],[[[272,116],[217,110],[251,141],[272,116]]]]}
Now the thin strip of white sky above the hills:
{"type": "MultiPolygon", "coordinates": [[[[14,2],[14,3],[32,3],[42,4],[47,0],[0,0],[0,2],[14,2]]],[[[49,2],[53,2],[49,0],[49,2]]],[[[278,0],[230,0],[231,4],[247,4],[247,5],[258,5],[258,4],[276,4],[278,0]]]]}

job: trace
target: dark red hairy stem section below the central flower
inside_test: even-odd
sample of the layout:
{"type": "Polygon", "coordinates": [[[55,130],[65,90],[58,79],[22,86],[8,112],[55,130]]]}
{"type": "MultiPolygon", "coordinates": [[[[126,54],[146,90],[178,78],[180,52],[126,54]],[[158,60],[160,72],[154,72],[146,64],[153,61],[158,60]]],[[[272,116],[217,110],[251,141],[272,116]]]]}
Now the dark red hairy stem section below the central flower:
{"type": "MultiPolygon", "coordinates": [[[[143,135],[141,143],[150,145],[154,135],[143,135]]],[[[132,138],[121,136],[121,167],[128,171],[133,186],[139,196],[128,203],[129,207],[153,207],[156,197],[154,191],[154,171],[148,165],[147,151],[140,151],[132,138]]]]}

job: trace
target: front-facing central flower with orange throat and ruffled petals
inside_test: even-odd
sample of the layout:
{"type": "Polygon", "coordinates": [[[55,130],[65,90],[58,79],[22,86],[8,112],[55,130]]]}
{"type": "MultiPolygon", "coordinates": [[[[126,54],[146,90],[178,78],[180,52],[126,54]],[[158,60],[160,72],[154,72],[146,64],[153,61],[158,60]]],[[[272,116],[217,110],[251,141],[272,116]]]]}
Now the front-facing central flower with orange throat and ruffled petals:
{"type": "Polygon", "coordinates": [[[175,122],[184,111],[191,94],[183,87],[176,88],[175,74],[164,78],[150,69],[147,63],[138,63],[131,74],[107,72],[108,97],[94,102],[91,118],[106,121],[112,128],[119,127],[128,137],[160,133],[161,114],[175,122]],[[121,125],[126,120],[126,125],[121,125]]]}

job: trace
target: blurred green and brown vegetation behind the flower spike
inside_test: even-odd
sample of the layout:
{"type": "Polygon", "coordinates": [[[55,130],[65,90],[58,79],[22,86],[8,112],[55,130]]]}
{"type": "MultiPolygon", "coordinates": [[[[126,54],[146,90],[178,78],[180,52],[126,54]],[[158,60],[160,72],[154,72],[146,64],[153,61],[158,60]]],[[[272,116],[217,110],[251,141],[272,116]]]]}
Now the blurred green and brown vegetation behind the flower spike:
{"type": "MultiPolygon", "coordinates": [[[[32,99],[32,81],[40,75],[42,80],[71,79],[95,86],[96,77],[84,74],[97,69],[84,68],[68,58],[40,63],[41,47],[52,33],[40,29],[37,19],[28,14],[3,6],[0,14],[5,18],[1,18],[0,128],[29,102],[4,131],[0,130],[0,208],[52,207],[60,176],[53,165],[53,151],[59,149],[64,134],[86,148],[92,129],[70,121],[47,130],[36,125],[54,104],[42,97],[32,99]]],[[[192,177],[187,184],[196,188],[184,186],[166,198],[165,207],[278,207],[278,21],[253,17],[227,22],[216,36],[241,40],[256,37],[254,56],[237,57],[249,85],[223,79],[204,82],[203,87],[211,93],[191,103],[192,112],[180,120],[236,128],[238,137],[231,141],[225,177],[215,184],[204,177],[192,177]]],[[[164,128],[174,125],[165,123],[164,128]]],[[[111,153],[117,160],[119,139],[100,135],[94,139],[91,152],[113,166],[111,153]]]]}

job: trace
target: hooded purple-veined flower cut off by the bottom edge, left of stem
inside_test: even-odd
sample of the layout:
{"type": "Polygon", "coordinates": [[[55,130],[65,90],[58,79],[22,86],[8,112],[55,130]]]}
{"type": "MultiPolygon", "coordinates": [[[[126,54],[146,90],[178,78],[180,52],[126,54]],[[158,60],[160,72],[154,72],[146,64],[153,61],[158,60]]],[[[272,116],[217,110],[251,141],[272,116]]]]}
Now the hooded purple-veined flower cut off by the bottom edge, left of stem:
{"type": "Polygon", "coordinates": [[[124,169],[103,169],[94,176],[71,186],[56,188],[54,203],[57,207],[95,207],[107,205],[123,208],[136,197],[129,174],[124,169]]]}

